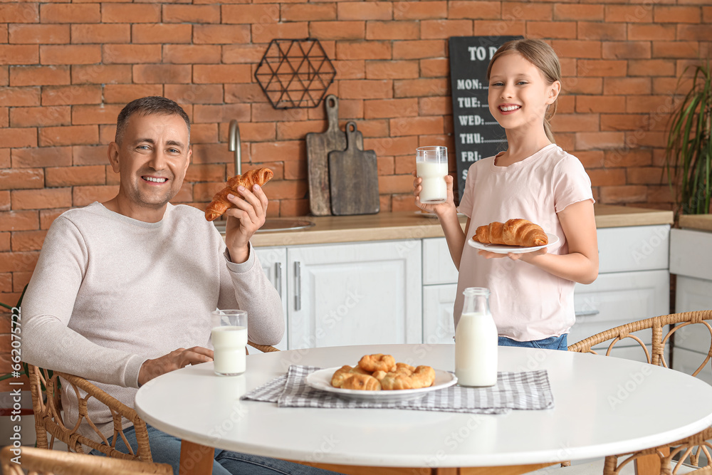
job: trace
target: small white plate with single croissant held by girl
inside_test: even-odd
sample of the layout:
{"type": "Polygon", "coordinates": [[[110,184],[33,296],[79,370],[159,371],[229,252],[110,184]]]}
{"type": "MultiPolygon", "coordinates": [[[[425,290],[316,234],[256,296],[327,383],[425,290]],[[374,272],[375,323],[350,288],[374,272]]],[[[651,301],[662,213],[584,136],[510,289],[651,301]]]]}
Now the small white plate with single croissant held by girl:
{"type": "Polygon", "coordinates": [[[510,219],[506,223],[493,221],[478,226],[467,244],[475,249],[496,254],[524,254],[554,246],[559,236],[544,232],[538,224],[526,219],[510,219]]]}

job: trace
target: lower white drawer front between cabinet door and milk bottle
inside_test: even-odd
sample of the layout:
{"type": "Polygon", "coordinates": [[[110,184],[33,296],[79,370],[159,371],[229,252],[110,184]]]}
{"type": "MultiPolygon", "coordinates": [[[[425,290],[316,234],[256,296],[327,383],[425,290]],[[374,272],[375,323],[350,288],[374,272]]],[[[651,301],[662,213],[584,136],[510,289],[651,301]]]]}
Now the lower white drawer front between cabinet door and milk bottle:
{"type": "Polygon", "coordinates": [[[456,292],[456,283],[423,287],[423,343],[454,343],[456,292]]]}

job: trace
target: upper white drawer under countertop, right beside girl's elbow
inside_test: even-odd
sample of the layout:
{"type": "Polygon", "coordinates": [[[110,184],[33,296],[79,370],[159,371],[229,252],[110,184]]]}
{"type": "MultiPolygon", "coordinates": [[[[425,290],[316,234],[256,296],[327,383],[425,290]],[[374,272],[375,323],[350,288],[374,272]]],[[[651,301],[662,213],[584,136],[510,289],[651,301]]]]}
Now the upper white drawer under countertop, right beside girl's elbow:
{"type": "Polygon", "coordinates": [[[602,228],[597,236],[600,273],[668,268],[669,224],[602,228]]]}

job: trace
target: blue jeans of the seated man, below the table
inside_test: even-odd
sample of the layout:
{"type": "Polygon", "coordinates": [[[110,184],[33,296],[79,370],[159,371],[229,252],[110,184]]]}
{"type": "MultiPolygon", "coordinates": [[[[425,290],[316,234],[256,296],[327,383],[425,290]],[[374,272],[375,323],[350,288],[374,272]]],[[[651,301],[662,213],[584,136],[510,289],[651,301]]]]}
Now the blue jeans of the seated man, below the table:
{"type": "MultiPolygon", "coordinates": [[[[151,445],[151,455],[153,461],[161,464],[169,464],[173,467],[174,475],[178,475],[178,465],[180,459],[180,439],[159,431],[155,427],[146,424],[148,429],[148,439],[151,445]]],[[[124,430],[129,445],[136,453],[138,444],[136,433],[133,427],[124,430]]],[[[111,437],[109,442],[111,443],[111,437]]],[[[126,445],[119,437],[116,442],[116,449],[126,452],[126,445]]],[[[92,455],[104,454],[98,450],[90,452],[92,455]]],[[[311,466],[295,464],[290,461],[271,459],[269,457],[240,454],[229,450],[215,449],[215,461],[213,462],[214,475],[333,475],[335,472],[315,469],[311,466]]]]}

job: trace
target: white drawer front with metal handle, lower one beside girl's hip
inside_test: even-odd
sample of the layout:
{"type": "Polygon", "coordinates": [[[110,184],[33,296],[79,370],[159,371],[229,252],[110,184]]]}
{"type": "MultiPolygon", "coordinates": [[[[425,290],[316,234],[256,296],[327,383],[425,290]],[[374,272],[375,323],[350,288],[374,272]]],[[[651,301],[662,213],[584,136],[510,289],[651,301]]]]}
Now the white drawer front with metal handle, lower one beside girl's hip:
{"type": "MultiPolygon", "coordinates": [[[[670,307],[670,275],[667,271],[601,274],[594,283],[577,283],[574,307],[578,316],[568,343],[576,343],[603,330],[657,315],[670,307]],[[597,312],[597,313],[596,313],[597,312]]],[[[650,343],[650,338],[643,340],[650,343]]],[[[637,345],[633,340],[624,345],[637,345]]]]}

